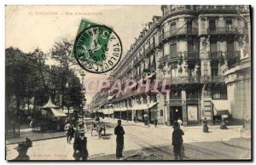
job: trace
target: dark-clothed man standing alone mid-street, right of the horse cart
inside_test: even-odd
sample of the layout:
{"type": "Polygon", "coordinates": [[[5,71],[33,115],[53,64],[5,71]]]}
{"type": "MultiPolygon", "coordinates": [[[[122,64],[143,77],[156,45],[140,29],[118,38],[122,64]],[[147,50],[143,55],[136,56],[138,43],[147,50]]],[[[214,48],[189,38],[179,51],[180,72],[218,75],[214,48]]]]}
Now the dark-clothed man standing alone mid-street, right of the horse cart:
{"type": "Polygon", "coordinates": [[[118,120],[118,125],[114,128],[114,134],[116,134],[116,158],[120,159],[123,157],[124,149],[124,134],[125,130],[121,126],[121,120],[118,120]]]}

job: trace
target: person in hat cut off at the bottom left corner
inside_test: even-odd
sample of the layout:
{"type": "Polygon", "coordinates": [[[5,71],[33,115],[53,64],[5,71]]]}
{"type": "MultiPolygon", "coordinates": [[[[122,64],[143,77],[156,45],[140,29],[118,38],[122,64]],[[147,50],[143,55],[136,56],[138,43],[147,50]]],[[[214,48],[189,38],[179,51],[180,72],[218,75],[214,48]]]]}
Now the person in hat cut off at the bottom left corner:
{"type": "Polygon", "coordinates": [[[26,155],[27,150],[32,147],[32,140],[26,138],[26,142],[21,142],[15,149],[19,152],[19,155],[14,159],[15,161],[28,161],[29,156],[26,155]]]}

